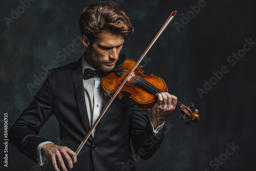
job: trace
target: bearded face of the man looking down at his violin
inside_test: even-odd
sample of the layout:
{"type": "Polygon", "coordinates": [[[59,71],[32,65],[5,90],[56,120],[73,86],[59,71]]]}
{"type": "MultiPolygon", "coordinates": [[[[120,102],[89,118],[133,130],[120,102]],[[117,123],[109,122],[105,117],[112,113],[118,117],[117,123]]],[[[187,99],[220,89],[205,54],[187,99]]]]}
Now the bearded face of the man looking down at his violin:
{"type": "Polygon", "coordinates": [[[123,35],[101,33],[90,46],[86,59],[93,68],[110,72],[115,67],[123,42],[123,35]]]}

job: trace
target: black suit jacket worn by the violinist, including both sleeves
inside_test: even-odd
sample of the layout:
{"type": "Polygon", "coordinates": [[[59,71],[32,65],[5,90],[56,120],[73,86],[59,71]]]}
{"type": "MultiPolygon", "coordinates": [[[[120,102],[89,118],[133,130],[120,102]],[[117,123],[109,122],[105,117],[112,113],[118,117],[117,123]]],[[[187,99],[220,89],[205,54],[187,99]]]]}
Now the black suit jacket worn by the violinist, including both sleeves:
{"type": "MultiPolygon", "coordinates": [[[[90,130],[81,58],[48,74],[33,102],[11,127],[10,142],[36,161],[38,144],[49,141],[37,135],[53,114],[59,123],[60,139],[75,152],[90,130]]],[[[100,120],[94,138],[91,136],[81,149],[73,170],[135,170],[131,139],[135,153],[147,159],[159,148],[162,138],[153,135],[147,111],[129,98],[116,99],[100,120]]]]}

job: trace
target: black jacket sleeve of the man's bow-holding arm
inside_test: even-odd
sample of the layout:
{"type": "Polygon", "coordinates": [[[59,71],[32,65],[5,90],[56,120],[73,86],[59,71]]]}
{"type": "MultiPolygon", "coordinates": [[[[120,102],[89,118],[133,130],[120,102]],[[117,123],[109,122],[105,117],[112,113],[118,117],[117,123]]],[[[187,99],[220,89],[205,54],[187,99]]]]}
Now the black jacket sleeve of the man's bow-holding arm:
{"type": "Polygon", "coordinates": [[[51,75],[48,75],[48,78],[34,96],[33,102],[18,117],[9,130],[10,142],[18,151],[35,162],[38,144],[49,141],[38,137],[39,131],[52,114],[51,75]]]}

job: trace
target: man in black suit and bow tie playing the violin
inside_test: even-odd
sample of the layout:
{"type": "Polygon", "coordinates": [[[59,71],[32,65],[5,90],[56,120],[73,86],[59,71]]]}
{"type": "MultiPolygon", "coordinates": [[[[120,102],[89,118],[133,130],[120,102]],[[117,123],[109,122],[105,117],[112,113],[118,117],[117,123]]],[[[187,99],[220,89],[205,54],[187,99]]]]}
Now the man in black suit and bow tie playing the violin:
{"type": "Polygon", "coordinates": [[[46,158],[51,159],[55,170],[59,170],[58,164],[62,170],[135,170],[130,139],[136,154],[150,158],[161,144],[164,120],[175,110],[177,98],[168,93],[157,94],[151,120],[146,110],[129,99],[115,99],[76,156],[74,151],[109,100],[99,75],[88,77],[87,71],[112,71],[124,36],[133,33],[129,17],[106,3],[85,7],[79,26],[86,52],[77,62],[48,75],[34,101],[11,127],[9,139],[20,152],[41,165],[46,158]],[[67,140],[67,146],[37,136],[53,114],[59,122],[60,139],[67,140]]]}

